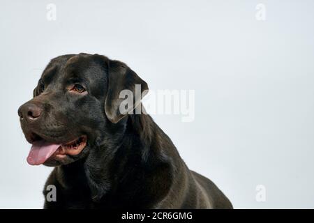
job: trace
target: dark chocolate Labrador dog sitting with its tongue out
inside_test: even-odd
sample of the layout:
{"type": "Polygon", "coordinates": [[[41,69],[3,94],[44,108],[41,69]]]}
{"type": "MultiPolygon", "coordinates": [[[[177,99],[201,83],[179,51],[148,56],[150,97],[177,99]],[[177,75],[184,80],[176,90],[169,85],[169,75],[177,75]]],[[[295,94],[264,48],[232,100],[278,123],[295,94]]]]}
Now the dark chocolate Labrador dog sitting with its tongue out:
{"type": "MultiPolygon", "coordinates": [[[[52,59],[18,110],[32,144],[27,161],[55,167],[45,208],[232,208],[211,180],[190,171],[147,114],[121,114],[127,89],[148,89],[120,61],[98,54],[52,59]]],[[[134,107],[142,106],[133,98],[134,107]]],[[[44,190],[44,194],[47,191],[44,190]]]]}

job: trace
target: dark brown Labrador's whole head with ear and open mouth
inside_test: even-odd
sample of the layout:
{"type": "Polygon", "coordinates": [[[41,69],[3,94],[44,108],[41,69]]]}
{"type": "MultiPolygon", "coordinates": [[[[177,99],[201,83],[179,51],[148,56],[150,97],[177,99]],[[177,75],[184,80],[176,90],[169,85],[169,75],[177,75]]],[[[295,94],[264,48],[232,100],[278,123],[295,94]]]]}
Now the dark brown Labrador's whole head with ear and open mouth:
{"type": "MultiPolygon", "coordinates": [[[[105,56],[70,54],[52,59],[33,99],[18,109],[24,135],[32,144],[29,164],[58,166],[96,156],[100,145],[109,150],[126,125],[119,93],[134,92],[135,84],[142,92],[148,89],[126,64],[105,56]]],[[[138,105],[138,99],[133,103],[138,105]]]]}

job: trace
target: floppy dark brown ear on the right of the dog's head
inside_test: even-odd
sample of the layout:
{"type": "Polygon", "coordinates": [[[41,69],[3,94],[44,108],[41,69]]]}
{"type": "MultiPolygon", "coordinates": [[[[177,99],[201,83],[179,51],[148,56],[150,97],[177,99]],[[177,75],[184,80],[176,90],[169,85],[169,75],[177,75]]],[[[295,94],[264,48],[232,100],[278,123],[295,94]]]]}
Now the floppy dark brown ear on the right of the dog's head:
{"type": "Polygon", "coordinates": [[[127,114],[133,112],[133,109],[140,105],[142,96],[147,93],[148,86],[137,74],[131,70],[125,63],[120,61],[108,62],[108,89],[107,96],[105,99],[105,113],[107,118],[112,123],[117,123],[124,118],[127,114]],[[140,92],[135,92],[135,84],[137,89],[140,86],[140,92]],[[126,102],[125,98],[120,98],[121,91],[126,90],[131,93],[133,98],[128,98],[127,100],[131,102],[132,106],[128,106],[124,111],[120,111],[121,103],[126,102]],[[144,92],[144,93],[143,93],[144,92]],[[138,95],[140,94],[140,95],[138,95]],[[121,113],[123,112],[123,113],[121,113]]]}

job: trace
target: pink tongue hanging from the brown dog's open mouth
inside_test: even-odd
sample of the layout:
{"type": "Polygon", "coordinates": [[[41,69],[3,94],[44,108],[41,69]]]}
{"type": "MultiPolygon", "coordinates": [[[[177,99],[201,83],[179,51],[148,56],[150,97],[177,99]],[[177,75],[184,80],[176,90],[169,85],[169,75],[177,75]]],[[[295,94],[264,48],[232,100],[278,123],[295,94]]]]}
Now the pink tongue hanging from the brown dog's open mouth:
{"type": "Polygon", "coordinates": [[[27,162],[31,165],[43,164],[61,144],[52,144],[45,140],[35,141],[29,151],[27,162]]]}

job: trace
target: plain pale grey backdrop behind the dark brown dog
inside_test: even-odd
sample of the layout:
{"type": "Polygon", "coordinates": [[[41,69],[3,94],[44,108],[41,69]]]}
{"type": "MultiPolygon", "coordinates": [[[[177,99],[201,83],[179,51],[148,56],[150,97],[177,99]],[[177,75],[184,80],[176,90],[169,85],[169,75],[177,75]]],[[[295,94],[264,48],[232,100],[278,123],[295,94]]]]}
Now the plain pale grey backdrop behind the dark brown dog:
{"type": "Polygon", "coordinates": [[[235,208],[314,208],[313,1],[0,3],[0,208],[42,207],[52,169],[27,164],[17,108],[50,59],[80,52],[126,62],[150,89],[195,90],[193,122],[154,119],[235,208]]]}

